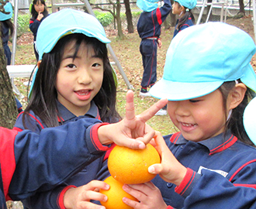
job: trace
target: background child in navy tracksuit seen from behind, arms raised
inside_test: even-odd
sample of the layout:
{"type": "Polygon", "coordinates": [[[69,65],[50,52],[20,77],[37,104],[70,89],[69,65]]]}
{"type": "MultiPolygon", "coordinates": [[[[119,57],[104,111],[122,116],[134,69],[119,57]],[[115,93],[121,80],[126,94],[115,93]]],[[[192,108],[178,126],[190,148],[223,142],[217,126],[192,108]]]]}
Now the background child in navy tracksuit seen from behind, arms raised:
{"type": "Polygon", "coordinates": [[[137,23],[139,33],[140,53],[144,73],[141,81],[140,96],[150,97],[147,87],[151,87],[157,81],[157,46],[161,48],[161,24],[171,12],[170,0],[164,0],[164,5],[157,8],[157,2],[138,0],[137,6],[143,10],[137,23]]]}

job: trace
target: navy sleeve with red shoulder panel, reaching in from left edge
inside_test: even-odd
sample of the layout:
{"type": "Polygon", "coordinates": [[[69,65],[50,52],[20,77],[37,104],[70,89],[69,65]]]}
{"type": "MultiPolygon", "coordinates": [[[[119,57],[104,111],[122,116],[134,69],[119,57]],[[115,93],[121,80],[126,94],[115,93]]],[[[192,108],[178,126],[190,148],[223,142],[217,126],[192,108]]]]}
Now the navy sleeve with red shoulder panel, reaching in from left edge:
{"type": "Polygon", "coordinates": [[[109,146],[99,142],[97,130],[104,125],[99,122],[95,118],[81,119],[45,128],[40,135],[29,130],[16,132],[1,128],[5,194],[8,191],[12,200],[21,200],[35,194],[36,190],[53,189],[102,156],[109,146]]]}

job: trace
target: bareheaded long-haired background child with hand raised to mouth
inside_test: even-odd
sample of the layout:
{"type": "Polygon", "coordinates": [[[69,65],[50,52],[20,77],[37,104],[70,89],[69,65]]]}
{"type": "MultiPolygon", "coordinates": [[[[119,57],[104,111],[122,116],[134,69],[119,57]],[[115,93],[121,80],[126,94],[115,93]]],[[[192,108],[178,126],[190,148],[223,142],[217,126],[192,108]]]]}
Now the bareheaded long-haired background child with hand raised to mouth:
{"type": "Polygon", "coordinates": [[[43,21],[48,16],[47,5],[44,0],[33,0],[30,5],[31,19],[29,21],[29,29],[33,33],[34,36],[34,52],[36,55],[36,60],[38,61],[38,52],[36,50],[36,34],[37,30],[43,21]]]}

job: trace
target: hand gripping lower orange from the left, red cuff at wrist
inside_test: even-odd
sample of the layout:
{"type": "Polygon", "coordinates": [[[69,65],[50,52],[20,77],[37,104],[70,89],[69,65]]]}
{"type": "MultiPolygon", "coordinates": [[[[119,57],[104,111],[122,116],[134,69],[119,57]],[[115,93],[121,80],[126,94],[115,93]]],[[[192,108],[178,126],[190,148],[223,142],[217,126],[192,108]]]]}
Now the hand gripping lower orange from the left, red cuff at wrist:
{"type": "Polygon", "coordinates": [[[105,208],[90,202],[90,200],[107,200],[105,194],[99,193],[99,189],[109,190],[109,185],[103,181],[92,180],[84,186],[68,189],[64,194],[64,207],[67,209],[105,208]]]}

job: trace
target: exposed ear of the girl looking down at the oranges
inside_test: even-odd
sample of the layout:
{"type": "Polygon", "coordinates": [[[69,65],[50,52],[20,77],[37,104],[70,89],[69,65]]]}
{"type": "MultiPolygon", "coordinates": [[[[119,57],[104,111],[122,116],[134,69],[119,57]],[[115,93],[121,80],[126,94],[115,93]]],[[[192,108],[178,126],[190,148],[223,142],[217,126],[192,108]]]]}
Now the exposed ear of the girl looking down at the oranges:
{"type": "Polygon", "coordinates": [[[240,105],[240,103],[244,100],[244,94],[246,91],[247,91],[246,85],[244,85],[243,83],[236,84],[234,89],[230,91],[229,109],[237,108],[237,106],[240,105]]]}

